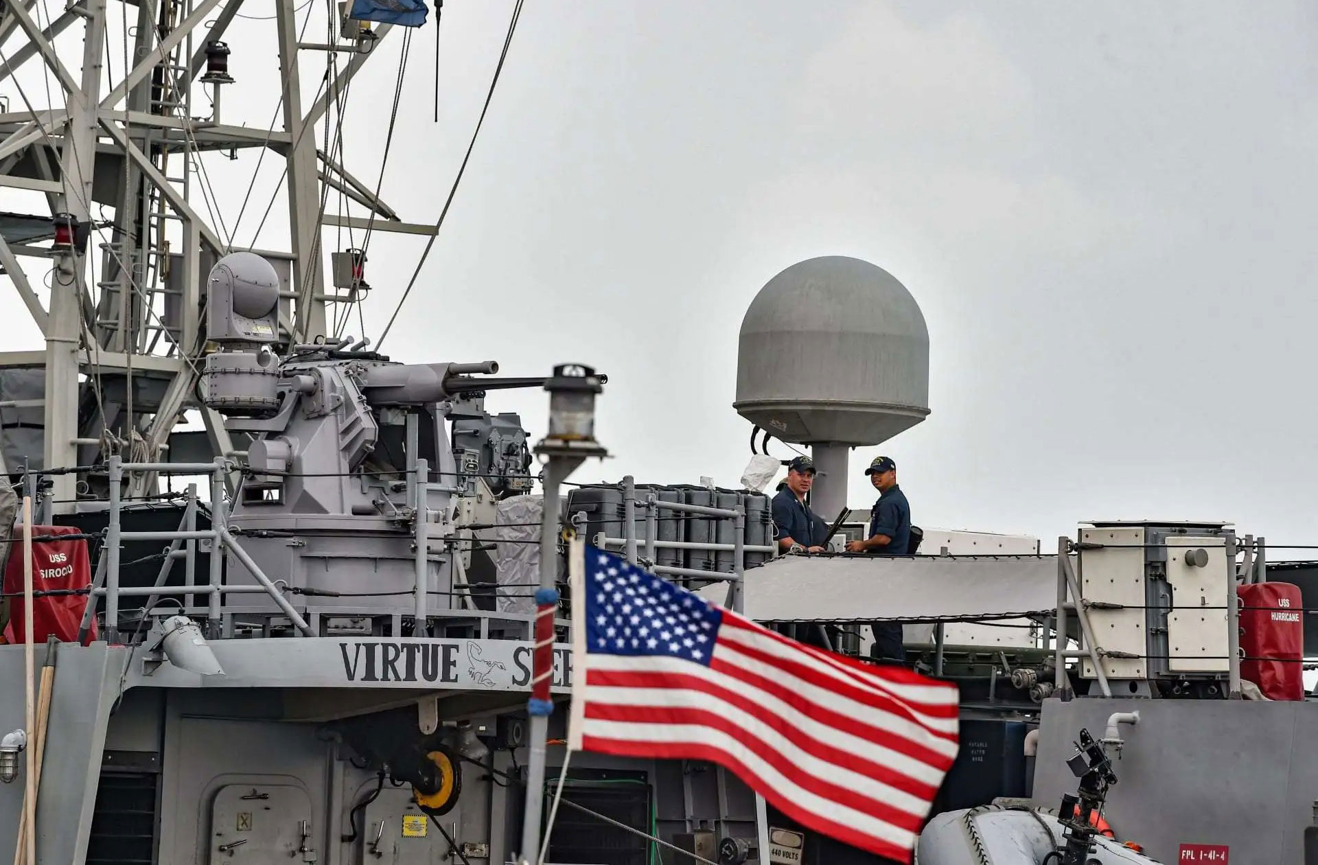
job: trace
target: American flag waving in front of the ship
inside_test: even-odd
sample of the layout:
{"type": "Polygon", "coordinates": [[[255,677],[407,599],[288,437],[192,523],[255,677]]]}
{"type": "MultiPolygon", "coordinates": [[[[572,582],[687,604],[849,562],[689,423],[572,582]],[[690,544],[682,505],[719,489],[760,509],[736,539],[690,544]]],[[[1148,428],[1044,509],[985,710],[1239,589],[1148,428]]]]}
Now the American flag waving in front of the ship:
{"type": "Polygon", "coordinates": [[[728,767],[801,825],[908,861],[957,688],[812,649],[587,546],[568,745],[728,767]]]}

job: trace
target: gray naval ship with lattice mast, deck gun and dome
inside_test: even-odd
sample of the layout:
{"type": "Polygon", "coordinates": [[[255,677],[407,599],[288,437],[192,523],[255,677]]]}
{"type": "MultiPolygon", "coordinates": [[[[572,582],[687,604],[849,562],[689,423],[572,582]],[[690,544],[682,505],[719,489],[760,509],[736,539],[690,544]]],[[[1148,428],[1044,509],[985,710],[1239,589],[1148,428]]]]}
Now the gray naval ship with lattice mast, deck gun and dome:
{"type": "Polygon", "coordinates": [[[328,229],[432,243],[443,222],[405,222],[341,158],[349,83],[407,22],[330,4],[308,42],[310,5],[272,5],[273,124],[221,111],[243,0],[0,12],[0,187],[49,211],[0,214],[0,268],[45,340],[0,352],[0,853],[503,865],[539,861],[519,849],[532,824],[561,865],[879,861],[712,763],[580,753],[559,771],[573,622],[564,604],[559,705],[535,723],[532,599],[564,584],[576,537],[858,658],[862,622],[902,622],[909,663],[962,704],[925,865],[1318,861],[1318,715],[1296,691],[1315,566],[1176,520],[1056,546],[924,527],[915,555],[845,554],[866,529],[851,451],[931,410],[915,297],[846,257],[782,269],[741,322],[741,485],[572,485],[604,450],[594,401],[626,386],[608,359],[511,377],[345,332],[366,251],[327,249],[328,229]],[[109,20],[136,26],[107,74],[125,47],[109,20]],[[326,61],[314,95],[307,58],[326,61]],[[22,87],[32,70],[51,87],[22,87]],[[207,206],[207,162],[252,150],[283,162],[287,249],[233,247],[207,206]],[[486,410],[518,389],[521,413],[486,410]],[[532,447],[522,417],[542,411],[532,447]],[[811,448],[811,505],[836,514],[825,554],[774,541],[787,446],[811,448]],[[529,814],[527,789],[559,779],[554,821],[529,814]]]}

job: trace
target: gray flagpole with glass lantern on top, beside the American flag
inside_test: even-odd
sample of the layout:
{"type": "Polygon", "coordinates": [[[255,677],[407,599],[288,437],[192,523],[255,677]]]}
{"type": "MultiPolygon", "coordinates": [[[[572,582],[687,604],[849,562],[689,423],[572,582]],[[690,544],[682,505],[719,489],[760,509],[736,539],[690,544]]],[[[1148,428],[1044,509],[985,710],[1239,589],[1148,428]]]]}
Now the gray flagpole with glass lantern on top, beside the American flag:
{"type": "Polygon", "coordinates": [[[519,865],[538,865],[540,818],[544,814],[544,741],[548,738],[554,700],[554,617],[559,609],[555,585],[559,570],[559,487],[587,456],[605,456],[594,440],[594,394],[602,376],[594,369],[572,364],[554,368],[544,382],[550,392],[550,429],[535,452],[546,458],[544,512],[540,514],[540,587],[535,592],[535,653],[531,658],[531,699],[526,712],[531,719],[530,760],[526,766],[526,808],[522,812],[519,865]]]}

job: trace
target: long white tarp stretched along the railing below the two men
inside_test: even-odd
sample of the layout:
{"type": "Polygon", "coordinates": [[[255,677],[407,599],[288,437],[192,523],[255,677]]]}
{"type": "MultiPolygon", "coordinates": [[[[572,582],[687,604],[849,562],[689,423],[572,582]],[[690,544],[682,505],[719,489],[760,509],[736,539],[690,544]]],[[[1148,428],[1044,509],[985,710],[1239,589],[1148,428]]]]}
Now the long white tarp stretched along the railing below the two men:
{"type": "Polygon", "coordinates": [[[1014,618],[1056,611],[1057,556],[784,555],[746,571],[745,604],[755,621],[1014,618]]]}

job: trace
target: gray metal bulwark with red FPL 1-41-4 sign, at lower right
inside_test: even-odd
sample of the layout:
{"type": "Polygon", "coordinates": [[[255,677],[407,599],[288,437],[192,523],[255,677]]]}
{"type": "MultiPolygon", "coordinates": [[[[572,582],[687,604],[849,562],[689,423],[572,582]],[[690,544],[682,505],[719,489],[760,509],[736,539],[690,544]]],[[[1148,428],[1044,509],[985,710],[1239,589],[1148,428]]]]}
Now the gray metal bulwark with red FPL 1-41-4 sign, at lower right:
{"type": "Polygon", "coordinates": [[[1114,760],[1103,816],[1118,837],[1164,862],[1181,844],[1230,847],[1232,865],[1301,865],[1318,799],[1318,704],[1247,700],[1044,700],[1033,800],[1074,792],[1065,765],[1082,727],[1139,711],[1114,760]]]}

